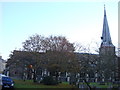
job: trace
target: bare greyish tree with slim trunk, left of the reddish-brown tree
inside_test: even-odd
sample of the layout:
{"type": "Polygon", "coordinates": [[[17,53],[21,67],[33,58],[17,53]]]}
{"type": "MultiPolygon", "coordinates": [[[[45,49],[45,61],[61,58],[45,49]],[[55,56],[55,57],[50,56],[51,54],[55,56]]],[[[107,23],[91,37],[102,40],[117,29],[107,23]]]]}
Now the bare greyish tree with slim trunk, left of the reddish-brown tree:
{"type": "Polygon", "coordinates": [[[38,34],[35,34],[33,36],[30,36],[28,40],[26,40],[25,42],[23,42],[23,50],[24,51],[28,51],[28,52],[32,52],[33,54],[33,60],[34,63],[32,64],[33,67],[33,73],[34,73],[34,77],[33,80],[34,82],[36,82],[36,72],[37,72],[37,68],[40,67],[42,62],[42,59],[39,58],[39,55],[37,52],[44,52],[44,37],[38,34]]]}

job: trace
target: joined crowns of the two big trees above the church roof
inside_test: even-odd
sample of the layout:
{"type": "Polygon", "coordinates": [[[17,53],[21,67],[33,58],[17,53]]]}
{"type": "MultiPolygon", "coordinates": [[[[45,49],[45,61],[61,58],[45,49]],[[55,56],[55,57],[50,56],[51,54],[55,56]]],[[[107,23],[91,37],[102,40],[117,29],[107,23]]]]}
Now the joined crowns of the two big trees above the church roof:
{"type": "Polygon", "coordinates": [[[60,51],[73,52],[75,50],[73,43],[70,43],[64,36],[44,37],[41,35],[30,36],[23,42],[23,50],[43,52],[43,51],[60,51]]]}

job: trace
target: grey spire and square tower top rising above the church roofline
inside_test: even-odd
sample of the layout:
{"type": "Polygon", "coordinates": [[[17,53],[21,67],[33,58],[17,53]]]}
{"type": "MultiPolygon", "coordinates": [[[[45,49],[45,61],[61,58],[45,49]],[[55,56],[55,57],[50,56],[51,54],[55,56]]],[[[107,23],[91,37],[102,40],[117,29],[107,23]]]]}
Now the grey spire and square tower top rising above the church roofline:
{"type": "Polygon", "coordinates": [[[101,37],[102,43],[100,46],[100,55],[115,55],[115,46],[112,44],[106,10],[104,6],[103,31],[101,37]]]}

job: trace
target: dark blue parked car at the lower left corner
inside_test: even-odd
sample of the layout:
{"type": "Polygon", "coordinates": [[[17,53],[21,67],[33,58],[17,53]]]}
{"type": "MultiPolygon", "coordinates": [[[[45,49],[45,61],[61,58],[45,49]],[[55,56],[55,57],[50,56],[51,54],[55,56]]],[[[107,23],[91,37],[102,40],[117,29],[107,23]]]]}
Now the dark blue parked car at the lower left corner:
{"type": "Polygon", "coordinates": [[[14,81],[10,77],[1,74],[0,79],[1,79],[0,84],[2,86],[2,89],[3,88],[14,88],[14,81]]]}

